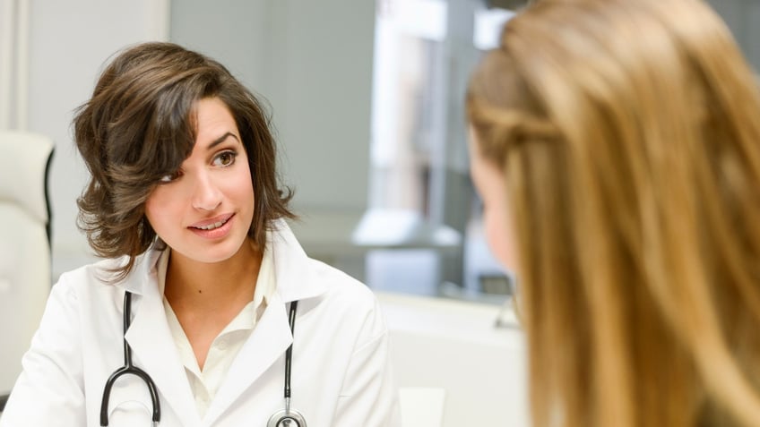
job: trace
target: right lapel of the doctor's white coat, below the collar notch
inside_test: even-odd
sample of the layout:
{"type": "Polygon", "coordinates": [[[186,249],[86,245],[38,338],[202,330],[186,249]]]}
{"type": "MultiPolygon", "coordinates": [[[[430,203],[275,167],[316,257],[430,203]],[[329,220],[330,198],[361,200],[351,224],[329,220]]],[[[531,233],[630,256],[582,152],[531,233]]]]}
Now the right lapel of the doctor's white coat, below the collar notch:
{"type": "Polygon", "coordinates": [[[276,295],[267,305],[246,343],[240,348],[235,362],[229,367],[204,423],[212,424],[235,401],[259,380],[285,354],[293,342],[285,304],[276,295]]]}

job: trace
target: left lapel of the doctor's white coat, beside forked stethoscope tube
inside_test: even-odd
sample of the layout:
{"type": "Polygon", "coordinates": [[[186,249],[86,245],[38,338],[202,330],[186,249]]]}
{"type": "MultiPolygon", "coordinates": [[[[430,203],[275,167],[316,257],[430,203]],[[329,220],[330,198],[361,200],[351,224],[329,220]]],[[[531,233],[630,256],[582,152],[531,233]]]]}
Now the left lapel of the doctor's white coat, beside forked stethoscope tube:
{"type": "MultiPolygon", "coordinates": [[[[149,271],[137,275],[138,278],[147,279],[142,282],[142,288],[134,289],[142,295],[133,298],[134,319],[125,337],[132,346],[134,364],[148,372],[156,383],[161,406],[171,406],[181,421],[180,425],[196,426],[200,424],[198,410],[187,382],[185,367],[168,329],[163,297],[156,277],[155,259],[151,257],[151,262],[147,264],[140,267],[149,271]]],[[[162,411],[162,414],[166,413],[167,411],[162,411]]]]}

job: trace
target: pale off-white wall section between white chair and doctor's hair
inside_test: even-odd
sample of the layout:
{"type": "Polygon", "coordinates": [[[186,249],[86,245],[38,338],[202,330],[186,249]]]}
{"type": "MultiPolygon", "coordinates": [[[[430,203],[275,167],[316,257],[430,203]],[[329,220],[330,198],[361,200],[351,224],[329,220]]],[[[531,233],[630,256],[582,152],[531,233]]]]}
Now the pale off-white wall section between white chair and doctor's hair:
{"type": "Polygon", "coordinates": [[[35,0],[30,17],[29,130],[56,141],[49,184],[57,276],[89,252],[75,226],[87,171],[71,138],[73,109],[90,96],[102,64],[117,49],[167,38],[168,0],[35,0]]]}

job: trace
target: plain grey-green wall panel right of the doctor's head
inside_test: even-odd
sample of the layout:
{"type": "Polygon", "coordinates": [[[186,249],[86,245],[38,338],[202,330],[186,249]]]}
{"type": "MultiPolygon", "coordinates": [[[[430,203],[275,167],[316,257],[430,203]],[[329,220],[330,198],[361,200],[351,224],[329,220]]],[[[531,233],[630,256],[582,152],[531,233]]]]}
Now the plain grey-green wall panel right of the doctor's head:
{"type": "Polygon", "coordinates": [[[367,205],[375,0],[173,0],[171,40],[267,98],[299,213],[367,205]]]}

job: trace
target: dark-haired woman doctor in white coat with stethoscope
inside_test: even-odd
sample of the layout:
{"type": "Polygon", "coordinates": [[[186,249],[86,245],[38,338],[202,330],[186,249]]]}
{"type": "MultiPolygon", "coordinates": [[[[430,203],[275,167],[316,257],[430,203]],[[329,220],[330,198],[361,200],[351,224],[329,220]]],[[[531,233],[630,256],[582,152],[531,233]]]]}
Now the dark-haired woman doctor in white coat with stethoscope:
{"type": "Polygon", "coordinates": [[[146,43],[73,124],[80,226],[106,260],[53,286],[0,426],[397,425],[376,299],[290,232],[249,90],[146,43]]]}

